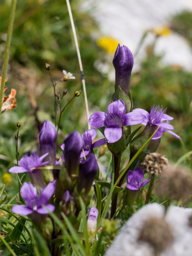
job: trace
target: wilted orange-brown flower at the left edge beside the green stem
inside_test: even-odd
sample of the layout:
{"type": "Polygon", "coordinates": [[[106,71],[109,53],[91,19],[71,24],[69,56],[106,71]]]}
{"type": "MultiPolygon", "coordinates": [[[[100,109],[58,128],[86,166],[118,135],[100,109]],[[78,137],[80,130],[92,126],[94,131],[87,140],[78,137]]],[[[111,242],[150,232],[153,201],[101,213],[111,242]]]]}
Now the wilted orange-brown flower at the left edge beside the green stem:
{"type": "MultiPolygon", "coordinates": [[[[2,78],[0,77],[0,84],[1,84],[1,80],[2,78]]],[[[7,78],[5,79],[5,82],[7,82],[7,78]]],[[[7,90],[7,86],[4,87],[4,92],[7,90]]],[[[2,108],[1,108],[1,112],[5,112],[8,111],[12,108],[16,107],[16,90],[15,89],[11,89],[11,92],[8,96],[3,97],[3,104],[2,104],[2,108]]]]}

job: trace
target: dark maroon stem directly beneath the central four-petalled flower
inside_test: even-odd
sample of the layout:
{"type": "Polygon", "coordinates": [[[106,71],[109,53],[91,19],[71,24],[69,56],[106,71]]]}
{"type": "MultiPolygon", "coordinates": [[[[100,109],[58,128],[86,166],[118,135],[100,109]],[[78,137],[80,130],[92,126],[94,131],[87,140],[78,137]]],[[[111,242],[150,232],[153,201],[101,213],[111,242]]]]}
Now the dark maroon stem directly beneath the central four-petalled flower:
{"type": "MultiPolygon", "coordinates": [[[[119,168],[120,168],[120,162],[121,162],[121,155],[119,156],[114,156],[113,155],[113,161],[114,161],[114,183],[117,181],[118,177],[119,177],[119,168]]],[[[117,193],[113,193],[112,195],[112,208],[110,211],[110,218],[112,218],[116,212],[116,208],[117,208],[117,199],[118,199],[118,194],[117,193]]]]}

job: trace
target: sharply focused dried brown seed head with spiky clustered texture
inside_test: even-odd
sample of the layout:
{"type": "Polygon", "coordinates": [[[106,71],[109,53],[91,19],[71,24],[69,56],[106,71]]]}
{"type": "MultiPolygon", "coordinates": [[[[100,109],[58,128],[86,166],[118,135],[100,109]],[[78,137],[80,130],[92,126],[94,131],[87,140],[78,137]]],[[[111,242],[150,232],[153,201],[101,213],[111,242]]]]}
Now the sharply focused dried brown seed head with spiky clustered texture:
{"type": "Polygon", "coordinates": [[[168,166],[168,159],[159,153],[150,153],[146,155],[141,163],[141,168],[149,174],[161,174],[162,169],[168,166]]]}

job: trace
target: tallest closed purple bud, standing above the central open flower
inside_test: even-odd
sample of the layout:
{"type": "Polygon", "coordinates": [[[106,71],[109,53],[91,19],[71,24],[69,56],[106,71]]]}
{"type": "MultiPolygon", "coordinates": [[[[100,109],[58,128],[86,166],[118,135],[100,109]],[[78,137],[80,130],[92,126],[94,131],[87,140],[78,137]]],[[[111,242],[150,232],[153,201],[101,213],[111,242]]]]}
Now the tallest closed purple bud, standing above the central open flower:
{"type": "Polygon", "coordinates": [[[120,88],[128,95],[133,67],[133,55],[127,46],[120,46],[118,44],[113,58],[113,66],[115,68],[115,91],[120,85],[120,88]]]}

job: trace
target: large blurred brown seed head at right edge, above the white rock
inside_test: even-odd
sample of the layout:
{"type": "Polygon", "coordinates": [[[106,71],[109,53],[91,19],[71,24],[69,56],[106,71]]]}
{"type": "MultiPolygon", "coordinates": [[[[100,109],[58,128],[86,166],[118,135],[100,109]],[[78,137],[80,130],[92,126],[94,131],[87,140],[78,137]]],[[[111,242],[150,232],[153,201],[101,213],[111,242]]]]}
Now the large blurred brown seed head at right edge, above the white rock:
{"type": "Polygon", "coordinates": [[[167,199],[189,200],[192,191],[192,177],[187,168],[170,165],[166,167],[156,182],[156,193],[167,199]]]}

